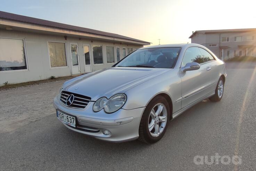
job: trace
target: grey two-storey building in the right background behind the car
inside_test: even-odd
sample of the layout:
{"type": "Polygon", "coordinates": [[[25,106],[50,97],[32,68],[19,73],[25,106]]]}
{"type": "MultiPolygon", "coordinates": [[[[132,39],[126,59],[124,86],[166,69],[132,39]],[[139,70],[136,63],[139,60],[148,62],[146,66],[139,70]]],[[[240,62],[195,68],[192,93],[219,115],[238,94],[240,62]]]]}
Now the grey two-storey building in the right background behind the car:
{"type": "Polygon", "coordinates": [[[204,45],[224,60],[235,56],[256,56],[256,28],[195,31],[191,43],[204,45]]]}

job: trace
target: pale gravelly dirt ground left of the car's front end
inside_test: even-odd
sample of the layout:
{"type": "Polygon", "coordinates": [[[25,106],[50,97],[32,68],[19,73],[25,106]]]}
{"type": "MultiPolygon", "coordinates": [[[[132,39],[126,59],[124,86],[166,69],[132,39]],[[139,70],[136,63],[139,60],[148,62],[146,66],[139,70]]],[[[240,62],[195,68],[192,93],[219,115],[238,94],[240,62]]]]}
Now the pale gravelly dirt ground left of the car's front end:
{"type": "Polygon", "coordinates": [[[55,113],[53,98],[66,80],[1,90],[0,132],[15,130],[55,113]]]}

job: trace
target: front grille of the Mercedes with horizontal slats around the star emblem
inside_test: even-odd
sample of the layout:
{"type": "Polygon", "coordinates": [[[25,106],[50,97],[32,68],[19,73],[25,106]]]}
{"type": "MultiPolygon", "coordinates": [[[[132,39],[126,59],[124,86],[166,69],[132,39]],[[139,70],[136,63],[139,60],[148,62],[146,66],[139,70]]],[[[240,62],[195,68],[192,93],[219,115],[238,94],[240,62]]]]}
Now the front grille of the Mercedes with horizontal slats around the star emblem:
{"type": "Polygon", "coordinates": [[[91,101],[91,97],[83,96],[83,95],[76,94],[76,93],[62,91],[60,94],[60,102],[63,103],[64,105],[66,105],[67,97],[71,94],[74,95],[74,101],[70,106],[68,106],[70,108],[84,109],[87,106],[87,104],[91,101]]]}

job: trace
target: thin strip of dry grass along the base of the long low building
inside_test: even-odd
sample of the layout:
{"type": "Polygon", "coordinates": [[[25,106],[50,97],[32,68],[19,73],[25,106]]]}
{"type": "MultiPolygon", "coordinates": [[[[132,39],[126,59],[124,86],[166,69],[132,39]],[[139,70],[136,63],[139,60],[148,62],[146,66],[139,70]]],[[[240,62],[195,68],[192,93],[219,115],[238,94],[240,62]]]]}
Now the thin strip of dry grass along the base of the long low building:
{"type": "Polygon", "coordinates": [[[58,80],[65,80],[65,79],[75,78],[77,76],[80,76],[80,75],[57,77],[57,78],[53,76],[53,78],[50,77],[49,79],[43,79],[43,80],[25,82],[25,83],[18,83],[18,84],[9,84],[8,82],[5,82],[3,86],[0,86],[0,90],[9,89],[9,88],[16,88],[16,87],[23,87],[23,86],[29,86],[29,85],[36,85],[36,84],[41,84],[41,83],[55,82],[55,81],[58,81],[58,80]]]}

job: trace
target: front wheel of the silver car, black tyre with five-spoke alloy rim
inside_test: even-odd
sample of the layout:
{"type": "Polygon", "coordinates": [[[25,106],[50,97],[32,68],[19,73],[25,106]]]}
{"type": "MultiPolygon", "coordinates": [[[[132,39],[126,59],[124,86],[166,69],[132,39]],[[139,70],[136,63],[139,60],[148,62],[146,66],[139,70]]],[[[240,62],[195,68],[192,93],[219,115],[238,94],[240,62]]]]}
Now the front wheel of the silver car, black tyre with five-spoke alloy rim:
{"type": "Polygon", "coordinates": [[[169,120],[170,107],[167,100],[163,96],[156,96],[149,102],[142,114],[138,140],[147,144],[158,142],[164,136],[169,120]],[[152,110],[155,112],[155,118],[152,110]]]}

